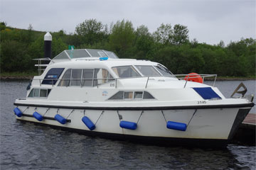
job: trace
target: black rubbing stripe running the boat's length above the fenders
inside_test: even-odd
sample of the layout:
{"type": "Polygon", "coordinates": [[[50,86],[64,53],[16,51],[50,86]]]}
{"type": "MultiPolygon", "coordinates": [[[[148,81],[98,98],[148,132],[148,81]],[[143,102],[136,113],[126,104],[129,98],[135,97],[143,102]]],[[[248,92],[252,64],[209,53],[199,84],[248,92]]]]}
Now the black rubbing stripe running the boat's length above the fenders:
{"type": "Polygon", "coordinates": [[[27,103],[14,103],[14,106],[30,106],[42,108],[69,108],[101,111],[156,111],[156,110],[183,110],[183,109],[208,109],[208,108],[245,108],[253,107],[254,103],[232,104],[232,105],[201,105],[201,106],[156,106],[156,107],[91,107],[91,106],[53,106],[27,103]]]}

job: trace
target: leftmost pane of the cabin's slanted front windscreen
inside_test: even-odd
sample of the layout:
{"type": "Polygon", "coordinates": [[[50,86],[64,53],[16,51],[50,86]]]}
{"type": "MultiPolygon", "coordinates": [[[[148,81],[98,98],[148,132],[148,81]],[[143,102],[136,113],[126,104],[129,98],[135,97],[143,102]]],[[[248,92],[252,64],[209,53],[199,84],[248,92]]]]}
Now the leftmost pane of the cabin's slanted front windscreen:
{"type": "Polygon", "coordinates": [[[141,77],[132,66],[112,67],[115,74],[120,78],[141,77]]]}

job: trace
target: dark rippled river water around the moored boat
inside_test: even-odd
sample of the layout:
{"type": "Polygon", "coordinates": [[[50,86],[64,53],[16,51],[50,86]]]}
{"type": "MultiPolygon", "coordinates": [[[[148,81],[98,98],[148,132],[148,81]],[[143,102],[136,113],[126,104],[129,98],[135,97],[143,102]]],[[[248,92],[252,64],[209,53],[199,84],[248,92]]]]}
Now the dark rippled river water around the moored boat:
{"type": "MultiPolygon", "coordinates": [[[[207,82],[207,84],[212,82],[207,82]]],[[[255,94],[255,81],[243,81],[255,94]]],[[[230,96],[240,81],[217,81],[230,96]]],[[[158,147],[87,137],[16,120],[13,103],[28,81],[1,81],[0,169],[255,169],[256,148],[158,147]]],[[[247,92],[248,93],[248,92],[247,92]]],[[[255,101],[254,101],[255,102],[255,101]]],[[[255,108],[253,110],[255,112],[255,108]]]]}

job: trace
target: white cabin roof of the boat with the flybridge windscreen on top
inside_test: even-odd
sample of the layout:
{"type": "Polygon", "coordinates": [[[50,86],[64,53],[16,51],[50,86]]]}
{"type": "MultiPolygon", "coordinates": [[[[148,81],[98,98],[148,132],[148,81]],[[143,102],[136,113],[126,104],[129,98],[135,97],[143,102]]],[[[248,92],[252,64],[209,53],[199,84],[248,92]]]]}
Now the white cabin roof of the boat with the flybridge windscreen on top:
{"type": "Polygon", "coordinates": [[[106,50],[64,50],[53,58],[49,67],[65,67],[65,68],[106,68],[127,65],[157,65],[156,62],[149,60],[136,59],[119,59],[114,52],[106,50]]]}

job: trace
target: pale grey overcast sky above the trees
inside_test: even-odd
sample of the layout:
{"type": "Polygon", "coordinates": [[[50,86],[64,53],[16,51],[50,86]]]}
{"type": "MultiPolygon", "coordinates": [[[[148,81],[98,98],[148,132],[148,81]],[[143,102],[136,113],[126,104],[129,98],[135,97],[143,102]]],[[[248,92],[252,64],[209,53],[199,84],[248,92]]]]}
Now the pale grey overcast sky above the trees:
{"type": "Polygon", "coordinates": [[[122,19],[153,33],[161,23],[188,26],[189,38],[227,45],[256,38],[255,0],[0,0],[0,21],[14,28],[74,33],[85,19],[110,26],[122,19]]]}

